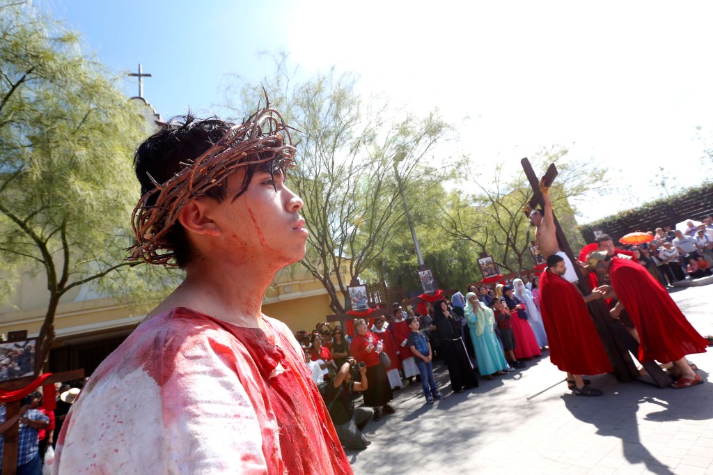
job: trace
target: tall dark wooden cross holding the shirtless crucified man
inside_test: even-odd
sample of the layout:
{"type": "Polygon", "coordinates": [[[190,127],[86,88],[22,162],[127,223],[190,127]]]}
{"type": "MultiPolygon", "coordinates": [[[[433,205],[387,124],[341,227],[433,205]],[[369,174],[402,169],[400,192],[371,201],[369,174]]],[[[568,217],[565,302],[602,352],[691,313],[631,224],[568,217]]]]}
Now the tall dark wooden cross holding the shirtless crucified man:
{"type": "MultiPolygon", "coordinates": [[[[520,160],[523,165],[523,170],[525,170],[525,176],[530,182],[530,186],[533,188],[533,198],[530,200],[530,207],[538,208],[543,207],[544,201],[542,193],[540,192],[540,180],[535,174],[530,161],[527,158],[520,160]]],[[[552,163],[547,172],[544,175],[545,185],[552,185],[553,181],[557,177],[557,168],[555,164],[552,163]]],[[[554,216],[554,210],[553,210],[554,216]]],[[[573,263],[573,267],[578,277],[578,287],[580,288],[583,295],[589,295],[591,291],[587,285],[587,280],[582,274],[580,267],[577,265],[578,260],[575,259],[575,255],[570,248],[567,237],[560,227],[560,223],[557,217],[554,216],[555,221],[555,233],[557,235],[557,240],[560,246],[560,250],[565,252],[565,254],[570,258],[573,263]]],[[[609,309],[605,302],[601,299],[593,300],[588,304],[590,313],[593,317],[595,327],[602,339],[602,344],[607,351],[610,362],[612,363],[612,368],[614,369],[614,376],[619,382],[630,382],[632,379],[637,379],[642,382],[647,382],[641,379],[639,371],[636,369],[634,362],[632,361],[629,352],[632,354],[639,354],[639,344],[631,336],[629,332],[619,323],[615,322],[609,314],[609,309]]],[[[655,385],[658,387],[669,387],[671,385],[671,379],[665,374],[661,367],[655,362],[642,362],[643,367],[645,367],[647,373],[652,377],[655,385]]]]}

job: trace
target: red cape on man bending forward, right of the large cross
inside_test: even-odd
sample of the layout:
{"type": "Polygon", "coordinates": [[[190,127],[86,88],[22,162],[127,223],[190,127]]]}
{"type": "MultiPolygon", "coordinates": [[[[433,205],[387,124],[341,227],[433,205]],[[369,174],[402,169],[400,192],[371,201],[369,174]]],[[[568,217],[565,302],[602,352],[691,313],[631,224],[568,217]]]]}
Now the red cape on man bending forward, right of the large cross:
{"type": "Polygon", "coordinates": [[[704,353],[708,342],[686,320],[661,284],[638,262],[612,257],[612,288],[639,332],[639,361],[667,363],[704,353]]]}

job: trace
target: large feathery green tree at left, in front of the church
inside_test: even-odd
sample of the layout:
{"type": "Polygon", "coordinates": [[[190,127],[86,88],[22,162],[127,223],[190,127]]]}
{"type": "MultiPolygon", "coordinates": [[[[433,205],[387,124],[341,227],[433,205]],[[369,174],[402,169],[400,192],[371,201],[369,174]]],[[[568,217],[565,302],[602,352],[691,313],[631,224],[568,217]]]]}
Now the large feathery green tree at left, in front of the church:
{"type": "Polygon", "coordinates": [[[61,296],[125,265],[130,156],[146,123],[76,35],[29,2],[0,4],[0,71],[0,269],[46,274],[46,349],[61,296]]]}

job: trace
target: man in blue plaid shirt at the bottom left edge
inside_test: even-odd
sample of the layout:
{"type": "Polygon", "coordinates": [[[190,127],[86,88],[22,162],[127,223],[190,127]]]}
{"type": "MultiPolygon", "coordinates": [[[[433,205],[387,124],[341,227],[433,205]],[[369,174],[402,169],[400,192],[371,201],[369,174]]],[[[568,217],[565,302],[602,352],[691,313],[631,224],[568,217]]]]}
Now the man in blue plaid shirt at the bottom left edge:
{"type": "MultiPolygon", "coordinates": [[[[2,427],[5,422],[5,414],[6,408],[3,405],[0,407],[0,428],[7,430],[12,424],[9,427],[2,427]]],[[[20,430],[17,438],[17,475],[41,475],[42,459],[39,454],[37,434],[39,429],[47,427],[49,418],[37,409],[30,409],[29,405],[22,407],[10,421],[17,420],[18,415],[20,416],[20,430]]],[[[0,435],[0,460],[2,460],[4,444],[4,436],[0,435]]]]}

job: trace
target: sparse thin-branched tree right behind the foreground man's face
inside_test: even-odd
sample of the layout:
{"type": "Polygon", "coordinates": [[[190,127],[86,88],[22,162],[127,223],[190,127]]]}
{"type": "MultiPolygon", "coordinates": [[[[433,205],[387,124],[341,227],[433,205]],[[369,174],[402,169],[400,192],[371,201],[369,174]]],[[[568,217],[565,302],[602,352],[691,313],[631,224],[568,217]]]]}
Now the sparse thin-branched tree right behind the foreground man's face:
{"type": "Polygon", "coordinates": [[[379,97],[360,96],[354,73],[332,69],[297,81],[286,65],[287,58],[278,57],[274,76],[261,84],[241,80],[242,104],[228,106],[254,108],[265,86],[271,103],[300,131],[289,186],[304,200],[310,233],[302,265],[340,312],[349,282],[369,275],[397,233],[408,234],[394,168],[407,195],[446,178],[447,171],[425,163],[451,127],[437,112],[417,117],[379,97]]]}

